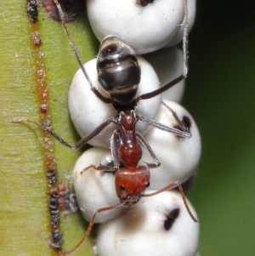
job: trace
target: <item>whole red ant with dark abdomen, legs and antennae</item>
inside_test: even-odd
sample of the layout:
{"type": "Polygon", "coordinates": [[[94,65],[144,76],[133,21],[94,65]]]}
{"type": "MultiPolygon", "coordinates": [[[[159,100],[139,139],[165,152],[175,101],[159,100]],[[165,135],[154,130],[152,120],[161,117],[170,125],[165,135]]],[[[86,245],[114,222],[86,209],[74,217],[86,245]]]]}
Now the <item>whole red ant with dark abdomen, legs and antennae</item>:
{"type": "MultiPolygon", "coordinates": [[[[153,1],[152,1],[153,2],[153,1]]],[[[71,44],[71,48],[77,57],[77,61],[82,69],[84,76],[88,79],[91,90],[94,94],[105,102],[105,104],[111,104],[116,110],[116,117],[112,117],[106,122],[95,128],[91,134],[88,134],[85,138],[81,139],[76,145],[70,145],[64,139],[60,138],[58,134],[50,128],[48,122],[34,122],[26,118],[15,118],[14,122],[32,122],[38,127],[42,128],[44,132],[50,134],[55,139],[59,140],[63,145],[70,147],[73,150],[80,149],[83,145],[86,145],[90,139],[99,134],[105,127],[111,123],[115,123],[118,128],[111,135],[111,155],[113,158],[112,171],[116,172],[116,194],[120,199],[120,203],[107,208],[99,208],[94,211],[94,215],[89,222],[88,229],[80,242],[71,250],[65,251],[65,255],[72,253],[79,247],[82,242],[88,237],[93,225],[94,219],[97,213],[119,208],[121,206],[132,206],[139,202],[141,196],[154,196],[162,191],[170,190],[178,186],[178,189],[183,197],[185,208],[190,214],[191,219],[197,221],[193,214],[190,212],[190,208],[185,200],[184,190],[182,185],[175,181],[165,188],[150,193],[144,194],[144,191],[150,185],[150,168],[155,168],[160,165],[155,153],[150,145],[145,141],[144,137],[136,131],[136,122],[142,121],[148,123],[150,126],[160,128],[169,133],[173,133],[183,138],[190,138],[190,129],[186,127],[184,122],[180,121],[176,113],[168,107],[173,113],[178,122],[179,128],[170,128],[164,124],[155,122],[147,117],[136,116],[136,108],[139,104],[139,100],[147,100],[155,97],[166,91],[168,88],[173,87],[176,83],[187,77],[187,36],[188,36],[188,9],[187,2],[184,0],[184,35],[183,35],[183,50],[184,50],[184,71],[175,78],[172,82],[168,82],[161,88],[156,89],[148,94],[142,94],[137,98],[134,98],[140,82],[141,71],[138,64],[136,54],[133,49],[130,48],[122,39],[116,36],[107,36],[103,39],[99,46],[99,54],[97,58],[97,70],[98,80],[102,88],[109,95],[105,97],[100,94],[97,88],[94,87],[88,77],[88,73],[85,70],[81,57],[77,51],[75,43],[73,43],[70,33],[67,29],[63,11],[58,3],[58,0],[54,0],[57,9],[59,10],[59,16],[65,29],[65,33],[71,44]],[[154,164],[146,164],[144,166],[138,166],[139,160],[142,157],[141,145],[149,151],[150,156],[154,159],[154,164]]],[[[150,3],[150,1],[149,1],[150,3]]],[[[163,103],[162,103],[163,104],[163,103]]],[[[102,166],[95,167],[97,170],[102,169],[102,166]]]]}

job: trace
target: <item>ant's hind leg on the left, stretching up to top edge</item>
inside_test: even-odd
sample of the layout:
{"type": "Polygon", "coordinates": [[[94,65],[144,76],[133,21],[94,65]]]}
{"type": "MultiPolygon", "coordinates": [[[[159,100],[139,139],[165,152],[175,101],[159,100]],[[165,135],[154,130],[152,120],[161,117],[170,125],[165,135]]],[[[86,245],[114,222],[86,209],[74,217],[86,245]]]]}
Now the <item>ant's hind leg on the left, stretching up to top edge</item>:
{"type": "Polygon", "coordinates": [[[85,77],[87,78],[87,80],[88,80],[88,83],[89,83],[89,85],[90,85],[91,90],[92,90],[92,91],[94,92],[94,94],[99,98],[99,100],[102,100],[102,101],[105,102],[106,104],[111,104],[111,103],[112,103],[112,100],[111,100],[110,98],[107,98],[107,97],[105,97],[104,95],[100,94],[99,91],[97,90],[97,88],[95,88],[94,85],[92,84],[92,82],[90,81],[90,79],[89,79],[89,77],[88,77],[88,73],[87,73],[87,71],[85,70],[84,65],[83,65],[83,63],[82,63],[82,58],[81,58],[81,56],[80,56],[80,54],[79,54],[79,52],[78,52],[77,46],[76,46],[76,44],[72,41],[71,35],[70,35],[70,33],[69,33],[69,31],[68,31],[68,28],[67,28],[67,26],[66,26],[65,17],[64,17],[64,14],[63,14],[63,10],[61,9],[61,6],[60,6],[58,0],[54,0],[54,3],[55,3],[55,5],[56,5],[56,7],[57,7],[57,9],[58,9],[58,11],[59,11],[59,17],[60,17],[60,19],[61,19],[61,21],[62,21],[62,24],[63,24],[63,26],[64,26],[65,34],[67,35],[67,37],[68,37],[68,39],[69,39],[69,43],[71,44],[71,48],[72,48],[74,54],[75,54],[76,57],[77,57],[78,63],[79,63],[79,65],[80,65],[81,69],[82,69],[82,72],[83,72],[84,76],[85,76],[85,77]]]}

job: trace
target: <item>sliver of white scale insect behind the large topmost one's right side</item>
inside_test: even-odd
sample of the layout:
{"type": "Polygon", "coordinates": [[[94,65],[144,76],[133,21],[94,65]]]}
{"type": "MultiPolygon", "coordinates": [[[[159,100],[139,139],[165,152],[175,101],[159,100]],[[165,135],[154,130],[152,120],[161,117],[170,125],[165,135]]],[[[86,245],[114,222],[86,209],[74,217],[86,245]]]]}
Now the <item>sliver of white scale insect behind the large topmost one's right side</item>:
{"type": "MultiPolygon", "coordinates": [[[[189,15],[189,32],[195,23],[195,13],[196,13],[196,0],[187,0],[188,5],[188,15],[189,15]]],[[[166,47],[172,47],[183,40],[183,27],[181,27],[176,34],[173,36],[171,41],[167,43],[166,47]]]]}

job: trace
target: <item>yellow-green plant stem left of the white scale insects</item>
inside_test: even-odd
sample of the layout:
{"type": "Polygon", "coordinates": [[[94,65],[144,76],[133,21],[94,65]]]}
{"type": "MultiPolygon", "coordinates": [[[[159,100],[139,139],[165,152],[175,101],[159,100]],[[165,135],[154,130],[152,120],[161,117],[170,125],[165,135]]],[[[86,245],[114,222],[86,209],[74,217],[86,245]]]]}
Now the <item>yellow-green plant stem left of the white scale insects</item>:
{"type": "MultiPolygon", "coordinates": [[[[74,143],[78,136],[69,117],[67,97],[71,77],[78,68],[77,60],[61,23],[50,20],[42,6],[39,8],[51,122],[57,134],[74,143]]],[[[42,131],[31,124],[11,122],[14,117],[40,121],[26,1],[6,1],[4,6],[0,5],[0,15],[0,254],[56,255],[48,245],[48,181],[42,131]]],[[[78,19],[69,27],[83,61],[94,58],[98,43],[95,43],[88,20],[78,19]]],[[[81,152],[71,151],[54,141],[60,182],[71,184],[72,167],[81,152]]],[[[61,216],[64,249],[79,241],[85,227],[77,213],[61,216]]],[[[85,242],[72,255],[92,255],[91,242],[85,242]]]]}

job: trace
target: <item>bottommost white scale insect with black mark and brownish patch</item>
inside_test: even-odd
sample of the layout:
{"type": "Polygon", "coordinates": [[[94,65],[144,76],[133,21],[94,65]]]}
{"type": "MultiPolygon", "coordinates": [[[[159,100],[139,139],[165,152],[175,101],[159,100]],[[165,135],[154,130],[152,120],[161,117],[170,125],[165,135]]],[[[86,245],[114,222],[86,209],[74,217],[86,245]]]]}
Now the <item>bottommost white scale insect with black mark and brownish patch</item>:
{"type": "MultiPolygon", "coordinates": [[[[189,207],[196,218],[190,203],[189,207]]],[[[190,218],[182,197],[165,191],[141,198],[116,219],[100,225],[96,251],[99,256],[195,256],[198,242],[199,225],[190,218]],[[178,217],[166,230],[167,214],[176,208],[178,217]]]]}

